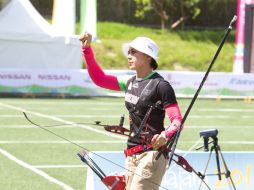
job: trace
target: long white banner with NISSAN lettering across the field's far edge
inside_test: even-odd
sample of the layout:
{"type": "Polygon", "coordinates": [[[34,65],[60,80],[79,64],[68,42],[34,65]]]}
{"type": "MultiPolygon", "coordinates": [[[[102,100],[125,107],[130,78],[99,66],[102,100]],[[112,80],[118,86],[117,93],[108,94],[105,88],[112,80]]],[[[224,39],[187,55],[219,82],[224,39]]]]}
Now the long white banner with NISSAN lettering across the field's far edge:
{"type": "MultiPolygon", "coordinates": [[[[117,77],[131,77],[128,70],[106,70],[117,77]]],[[[176,95],[192,97],[197,91],[203,72],[158,71],[173,86],[176,95]]],[[[64,94],[69,96],[123,96],[93,84],[87,70],[0,70],[0,93],[31,93],[35,95],[64,94]]],[[[200,96],[254,97],[254,74],[212,72],[200,96]]]]}

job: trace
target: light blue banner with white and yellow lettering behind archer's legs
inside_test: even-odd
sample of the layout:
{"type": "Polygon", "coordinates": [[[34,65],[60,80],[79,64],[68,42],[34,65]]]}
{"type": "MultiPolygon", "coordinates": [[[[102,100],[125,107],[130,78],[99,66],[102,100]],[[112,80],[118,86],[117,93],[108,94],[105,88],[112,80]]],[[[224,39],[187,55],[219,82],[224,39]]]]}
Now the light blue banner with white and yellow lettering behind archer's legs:
{"type": "MultiPolygon", "coordinates": [[[[123,152],[95,152],[91,154],[92,158],[98,164],[103,172],[108,175],[123,174],[124,172],[124,154],[123,152]],[[100,156],[100,157],[99,157],[100,156]],[[102,159],[102,157],[106,158],[102,159]],[[117,163],[118,165],[113,164],[117,163]],[[119,167],[122,166],[122,167],[119,167]]],[[[189,164],[197,172],[204,174],[205,167],[208,163],[206,175],[204,180],[213,190],[228,190],[231,189],[229,178],[225,175],[221,175],[219,180],[217,161],[215,151],[212,152],[176,152],[179,155],[185,157],[189,164]],[[210,161],[208,159],[210,158],[210,161]]],[[[221,172],[225,172],[225,168],[230,171],[230,177],[232,178],[236,189],[252,190],[254,188],[254,152],[222,152],[222,156],[225,160],[225,165],[220,157],[220,169],[221,172]]],[[[84,175],[85,176],[85,175],[84,175]]],[[[95,173],[88,169],[86,189],[89,190],[106,190],[105,185],[100,181],[95,173]],[[89,182],[89,183],[88,183],[89,182]]],[[[169,169],[167,169],[161,183],[160,190],[197,190],[199,189],[201,180],[192,172],[189,173],[172,162],[169,169]]],[[[208,188],[202,184],[201,190],[207,190],[208,188]]]]}

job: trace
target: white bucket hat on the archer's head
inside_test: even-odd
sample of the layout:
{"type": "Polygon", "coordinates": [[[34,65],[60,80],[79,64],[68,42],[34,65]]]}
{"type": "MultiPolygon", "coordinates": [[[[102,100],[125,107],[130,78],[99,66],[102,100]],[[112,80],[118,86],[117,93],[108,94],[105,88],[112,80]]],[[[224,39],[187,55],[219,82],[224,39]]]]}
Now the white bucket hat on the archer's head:
{"type": "Polygon", "coordinates": [[[123,53],[127,57],[130,47],[152,57],[156,62],[159,48],[157,44],[147,37],[137,37],[130,43],[123,44],[123,53]]]}

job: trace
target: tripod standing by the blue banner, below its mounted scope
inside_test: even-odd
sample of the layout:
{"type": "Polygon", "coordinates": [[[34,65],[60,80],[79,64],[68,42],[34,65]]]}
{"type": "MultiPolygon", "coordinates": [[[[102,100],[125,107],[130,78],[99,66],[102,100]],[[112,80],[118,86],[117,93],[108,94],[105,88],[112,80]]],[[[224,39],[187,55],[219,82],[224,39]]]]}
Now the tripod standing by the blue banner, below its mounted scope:
{"type": "MultiPolygon", "coordinates": [[[[203,178],[205,178],[205,176],[218,175],[219,180],[221,180],[221,175],[225,175],[225,177],[227,178],[227,181],[228,181],[229,188],[230,189],[233,188],[234,190],[236,190],[234,181],[233,181],[233,179],[230,175],[230,171],[227,167],[226,161],[225,161],[225,159],[224,159],[224,157],[221,153],[221,149],[220,149],[220,146],[218,144],[218,138],[216,136],[212,136],[213,140],[211,142],[208,142],[208,138],[209,137],[204,137],[205,145],[202,146],[202,147],[205,147],[205,151],[208,151],[208,144],[213,143],[213,146],[211,147],[211,150],[210,150],[210,153],[209,153],[209,157],[208,157],[208,161],[206,163],[203,178]],[[209,162],[210,162],[213,151],[215,151],[215,158],[216,158],[216,164],[217,164],[217,174],[206,174],[206,171],[207,171],[207,168],[208,168],[208,165],[209,165],[209,162]],[[222,162],[222,164],[225,168],[225,172],[221,172],[221,167],[220,167],[221,162],[222,162]]],[[[202,148],[202,147],[200,147],[200,148],[202,148]]],[[[200,149],[200,148],[198,148],[198,149],[200,149]]],[[[200,183],[199,190],[201,189],[201,186],[202,186],[202,183],[200,183]]]]}

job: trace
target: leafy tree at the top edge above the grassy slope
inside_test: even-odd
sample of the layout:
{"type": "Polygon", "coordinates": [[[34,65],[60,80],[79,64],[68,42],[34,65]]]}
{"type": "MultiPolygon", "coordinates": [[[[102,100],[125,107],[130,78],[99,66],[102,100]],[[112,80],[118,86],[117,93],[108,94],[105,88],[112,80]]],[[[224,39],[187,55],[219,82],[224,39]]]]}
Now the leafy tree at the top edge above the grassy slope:
{"type": "Polygon", "coordinates": [[[149,11],[154,11],[161,21],[161,29],[165,29],[167,23],[172,23],[171,28],[176,28],[186,19],[194,19],[199,13],[198,3],[200,0],[135,0],[135,16],[144,18],[149,11]],[[177,19],[175,16],[177,15],[177,19]]]}

